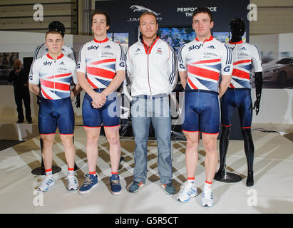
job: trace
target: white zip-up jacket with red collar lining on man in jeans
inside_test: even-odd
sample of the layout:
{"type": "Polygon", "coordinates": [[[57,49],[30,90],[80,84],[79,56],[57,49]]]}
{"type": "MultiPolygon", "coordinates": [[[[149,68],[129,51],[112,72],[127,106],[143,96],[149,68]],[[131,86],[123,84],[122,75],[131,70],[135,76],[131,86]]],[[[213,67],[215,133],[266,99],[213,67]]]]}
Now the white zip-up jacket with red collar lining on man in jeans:
{"type": "Polygon", "coordinates": [[[150,47],[140,38],[128,48],[126,58],[131,95],[169,94],[175,88],[178,78],[175,53],[159,37],[150,47]]]}

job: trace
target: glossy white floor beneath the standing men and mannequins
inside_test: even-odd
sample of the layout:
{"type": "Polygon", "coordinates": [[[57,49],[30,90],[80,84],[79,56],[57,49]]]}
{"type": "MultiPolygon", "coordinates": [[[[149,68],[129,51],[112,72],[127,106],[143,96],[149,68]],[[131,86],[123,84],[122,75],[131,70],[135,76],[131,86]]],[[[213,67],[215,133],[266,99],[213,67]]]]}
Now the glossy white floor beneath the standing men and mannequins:
{"type": "MultiPolygon", "coordinates": [[[[247,162],[243,142],[230,140],[227,171],[244,179],[237,183],[213,182],[215,206],[201,207],[201,195],[188,203],[176,200],[180,185],[185,182],[185,142],[173,142],[173,184],[175,195],[166,195],[158,178],[156,142],[148,145],[148,180],[140,192],[130,193],[127,188],[133,181],[133,140],[121,140],[122,155],[120,182],[123,192],[110,193],[108,176],[110,161],[108,142],[99,140],[97,162],[98,187],[87,195],[68,192],[65,187],[67,165],[63,146],[58,139],[53,146],[54,164],[62,168],[54,175],[56,185],[48,192],[35,190],[40,176],[31,170],[40,166],[39,138],[27,140],[0,152],[0,213],[293,213],[293,142],[278,133],[252,132],[255,142],[255,185],[246,187],[247,162]]],[[[88,172],[86,160],[86,135],[76,127],[76,172],[78,181],[88,172]]],[[[197,187],[201,192],[205,182],[205,152],[200,144],[199,165],[196,172],[197,187]]]]}

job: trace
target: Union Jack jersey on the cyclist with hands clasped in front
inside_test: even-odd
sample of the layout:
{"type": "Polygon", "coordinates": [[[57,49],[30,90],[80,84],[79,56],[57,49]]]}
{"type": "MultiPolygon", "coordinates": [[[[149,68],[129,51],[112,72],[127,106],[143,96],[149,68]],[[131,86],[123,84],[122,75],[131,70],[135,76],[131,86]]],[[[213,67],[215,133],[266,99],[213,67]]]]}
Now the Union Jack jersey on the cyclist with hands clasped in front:
{"type": "Polygon", "coordinates": [[[115,77],[116,71],[125,71],[122,46],[108,38],[86,43],[79,52],[77,71],[86,73],[91,88],[106,88],[115,77]]]}

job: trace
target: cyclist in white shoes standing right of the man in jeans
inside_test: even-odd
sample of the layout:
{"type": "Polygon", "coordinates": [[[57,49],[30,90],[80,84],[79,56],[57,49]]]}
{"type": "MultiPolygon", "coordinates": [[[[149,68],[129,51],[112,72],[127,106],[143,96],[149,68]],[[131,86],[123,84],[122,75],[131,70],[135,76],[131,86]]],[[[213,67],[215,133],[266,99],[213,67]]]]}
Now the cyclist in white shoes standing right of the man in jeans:
{"type": "Polygon", "coordinates": [[[197,195],[195,170],[197,147],[202,132],[205,146],[205,186],[202,191],[202,206],[212,207],[212,180],[217,168],[217,135],[220,129],[219,98],[230,84],[232,54],[224,43],[212,37],[214,26],[212,13],[207,8],[197,8],[192,16],[192,28],[196,38],[180,48],[178,69],[185,88],[185,113],[182,125],[186,136],[187,182],[183,184],[178,200],[188,202],[197,195]],[[222,81],[219,83],[220,74],[222,81]]]}

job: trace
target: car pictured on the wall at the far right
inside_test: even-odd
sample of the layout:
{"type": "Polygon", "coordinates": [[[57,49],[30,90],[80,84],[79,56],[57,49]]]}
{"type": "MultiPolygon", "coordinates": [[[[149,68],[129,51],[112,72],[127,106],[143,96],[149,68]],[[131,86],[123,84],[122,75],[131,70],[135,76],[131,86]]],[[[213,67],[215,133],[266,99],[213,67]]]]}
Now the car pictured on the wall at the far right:
{"type": "Polygon", "coordinates": [[[274,82],[284,85],[293,78],[293,57],[281,58],[273,63],[262,65],[262,79],[264,82],[274,82]]]}

